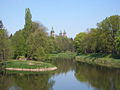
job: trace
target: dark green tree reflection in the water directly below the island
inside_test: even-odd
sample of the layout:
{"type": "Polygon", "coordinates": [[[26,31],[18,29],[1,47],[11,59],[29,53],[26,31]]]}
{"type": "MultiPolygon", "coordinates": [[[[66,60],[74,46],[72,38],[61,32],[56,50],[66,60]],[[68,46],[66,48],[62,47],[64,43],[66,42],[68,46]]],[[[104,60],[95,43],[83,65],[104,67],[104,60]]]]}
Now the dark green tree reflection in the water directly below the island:
{"type": "Polygon", "coordinates": [[[50,77],[50,74],[1,74],[0,90],[49,90],[55,83],[50,77]]]}

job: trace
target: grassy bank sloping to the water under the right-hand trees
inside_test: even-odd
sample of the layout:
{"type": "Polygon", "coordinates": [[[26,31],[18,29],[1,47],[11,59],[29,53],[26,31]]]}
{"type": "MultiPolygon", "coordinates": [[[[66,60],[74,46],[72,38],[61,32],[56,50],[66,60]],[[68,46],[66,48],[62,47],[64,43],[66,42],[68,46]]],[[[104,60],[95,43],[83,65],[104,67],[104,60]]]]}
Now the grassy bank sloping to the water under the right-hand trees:
{"type": "Polygon", "coordinates": [[[115,59],[111,55],[85,54],[76,56],[76,61],[88,64],[96,64],[111,68],[120,68],[120,59],[115,59]]]}

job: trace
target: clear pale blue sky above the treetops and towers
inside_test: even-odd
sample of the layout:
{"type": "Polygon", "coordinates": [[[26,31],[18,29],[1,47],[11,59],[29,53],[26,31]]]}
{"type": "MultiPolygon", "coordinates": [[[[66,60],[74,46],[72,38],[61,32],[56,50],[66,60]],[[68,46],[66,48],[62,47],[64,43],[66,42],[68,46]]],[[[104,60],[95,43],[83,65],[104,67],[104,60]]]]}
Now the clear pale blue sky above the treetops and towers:
{"type": "Polygon", "coordinates": [[[0,20],[9,34],[24,27],[26,8],[47,32],[53,27],[56,34],[65,30],[74,38],[106,17],[120,15],[120,0],[0,0],[0,20]]]}

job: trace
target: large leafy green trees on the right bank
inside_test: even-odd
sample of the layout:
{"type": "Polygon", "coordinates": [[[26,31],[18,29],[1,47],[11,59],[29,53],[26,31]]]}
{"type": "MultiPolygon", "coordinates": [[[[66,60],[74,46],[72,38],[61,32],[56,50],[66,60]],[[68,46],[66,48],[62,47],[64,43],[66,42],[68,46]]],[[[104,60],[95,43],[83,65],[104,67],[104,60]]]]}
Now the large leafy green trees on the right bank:
{"type": "Polygon", "coordinates": [[[74,45],[77,53],[120,53],[120,16],[110,16],[86,33],[76,35],[74,45]]]}

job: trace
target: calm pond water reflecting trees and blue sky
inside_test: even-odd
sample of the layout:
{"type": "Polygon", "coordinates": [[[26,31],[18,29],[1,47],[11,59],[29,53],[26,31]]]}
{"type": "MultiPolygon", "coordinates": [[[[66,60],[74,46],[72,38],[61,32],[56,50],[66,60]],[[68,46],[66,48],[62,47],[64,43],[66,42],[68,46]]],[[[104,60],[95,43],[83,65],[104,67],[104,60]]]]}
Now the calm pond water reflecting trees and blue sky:
{"type": "Polygon", "coordinates": [[[52,62],[57,71],[39,74],[0,73],[0,90],[120,90],[120,70],[73,60],[52,62]]]}

